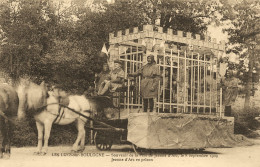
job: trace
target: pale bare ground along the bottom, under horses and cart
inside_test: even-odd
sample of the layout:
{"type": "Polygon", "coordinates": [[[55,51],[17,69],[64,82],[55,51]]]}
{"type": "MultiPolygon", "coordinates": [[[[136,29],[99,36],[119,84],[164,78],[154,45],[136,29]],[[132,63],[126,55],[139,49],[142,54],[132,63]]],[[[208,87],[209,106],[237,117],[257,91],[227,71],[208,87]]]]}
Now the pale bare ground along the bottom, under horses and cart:
{"type": "Polygon", "coordinates": [[[13,148],[10,159],[1,159],[1,167],[70,167],[70,166],[192,166],[260,167],[260,138],[252,146],[196,150],[157,150],[137,155],[131,145],[113,145],[99,151],[87,145],[81,154],[71,154],[69,146],[50,147],[45,156],[34,155],[35,147],[13,148]]]}

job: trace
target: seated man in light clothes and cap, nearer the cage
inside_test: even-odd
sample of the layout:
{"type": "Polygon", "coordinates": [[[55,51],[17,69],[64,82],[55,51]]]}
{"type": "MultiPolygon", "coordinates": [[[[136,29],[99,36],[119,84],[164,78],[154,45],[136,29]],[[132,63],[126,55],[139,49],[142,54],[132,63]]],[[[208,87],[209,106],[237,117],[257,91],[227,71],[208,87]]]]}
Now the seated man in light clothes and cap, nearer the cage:
{"type": "Polygon", "coordinates": [[[117,88],[121,87],[124,79],[124,71],[122,69],[122,62],[119,60],[114,61],[114,69],[110,72],[110,80],[104,80],[98,91],[98,95],[102,96],[108,90],[114,92],[117,88]]]}

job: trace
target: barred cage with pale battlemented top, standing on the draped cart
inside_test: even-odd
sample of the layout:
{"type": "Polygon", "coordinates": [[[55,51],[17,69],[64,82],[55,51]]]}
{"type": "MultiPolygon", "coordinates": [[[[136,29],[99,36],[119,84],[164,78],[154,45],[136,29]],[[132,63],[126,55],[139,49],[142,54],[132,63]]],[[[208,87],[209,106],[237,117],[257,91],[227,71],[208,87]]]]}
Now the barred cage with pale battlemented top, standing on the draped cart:
{"type": "MultiPolygon", "coordinates": [[[[110,64],[121,60],[125,78],[136,72],[153,53],[160,69],[158,97],[154,99],[157,113],[196,113],[221,116],[222,91],[218,87],[218,60],[225,52],[225,43],[216,43],[208,36],[162,27],[144,25],[110,33],[110,64]],[[131,32],[131,33],[130,33],[131,32]]],[[[111,65],[113,66],[113,65],[111,65]]],[[[127,79],[125,92],[118,100],[121,116],[142,112],[141,76],[127,79]],[[125,113],[125,114],[123,114],[125,113]]]]}

